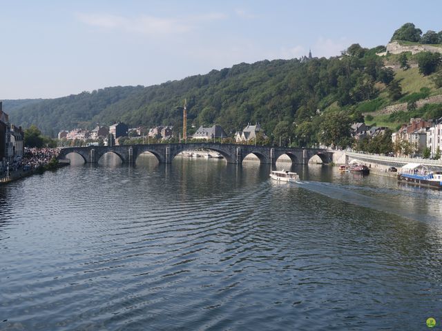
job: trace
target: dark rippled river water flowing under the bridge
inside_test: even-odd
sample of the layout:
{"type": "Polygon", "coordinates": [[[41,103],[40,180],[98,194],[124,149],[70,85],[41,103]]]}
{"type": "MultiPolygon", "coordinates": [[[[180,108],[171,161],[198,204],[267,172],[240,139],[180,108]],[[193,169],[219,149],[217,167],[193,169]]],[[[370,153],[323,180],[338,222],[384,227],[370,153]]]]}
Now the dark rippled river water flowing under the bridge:
{"type": "Polygon", "coordinates": [[[106,157],[1,186],[0,330],[441,323],[442,193],[292,169],[106,157]]]}

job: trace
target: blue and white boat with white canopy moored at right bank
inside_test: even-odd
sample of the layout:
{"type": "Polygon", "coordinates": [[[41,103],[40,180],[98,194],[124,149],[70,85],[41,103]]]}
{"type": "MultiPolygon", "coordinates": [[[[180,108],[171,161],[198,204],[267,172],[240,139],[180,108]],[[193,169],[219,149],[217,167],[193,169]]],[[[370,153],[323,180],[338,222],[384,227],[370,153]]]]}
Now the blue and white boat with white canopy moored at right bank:
{"type": "Polygon", "coordinates": [[[408,163],[398,173],[398,181],[442,188],[442,172],[430,171],[425,165],[419,163],[408,163]]]}

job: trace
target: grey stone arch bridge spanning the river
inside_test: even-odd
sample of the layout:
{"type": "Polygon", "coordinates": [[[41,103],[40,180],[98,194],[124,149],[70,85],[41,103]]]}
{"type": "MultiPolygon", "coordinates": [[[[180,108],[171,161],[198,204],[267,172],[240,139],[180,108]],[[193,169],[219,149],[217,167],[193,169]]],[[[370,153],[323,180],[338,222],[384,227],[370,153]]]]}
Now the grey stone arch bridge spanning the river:
{"type": "Polygon", "coordinates": [[[59,159],[66,159],[66,155],[77,153],[86,163],[97,163],[106,153],[112,152],[122,159],[123,163],[135,163],[137,157],[144,152],[151,152],[160,163],[171,163],[173,158],[186,150],[204,148],[219,152],[227,163],[241,164],[244,157],[255,154],[262,164],[274,164],[283,154],[287,154],[295,164],[307,164],[311,157],[318,155],[323,163],[330,163],[333,159],[333,150],[321,148],[285,148],[271,146],[236,145],[231,143],[157,143],[150,145],[124,146],[90,146],[62,148],[59,159]]]}

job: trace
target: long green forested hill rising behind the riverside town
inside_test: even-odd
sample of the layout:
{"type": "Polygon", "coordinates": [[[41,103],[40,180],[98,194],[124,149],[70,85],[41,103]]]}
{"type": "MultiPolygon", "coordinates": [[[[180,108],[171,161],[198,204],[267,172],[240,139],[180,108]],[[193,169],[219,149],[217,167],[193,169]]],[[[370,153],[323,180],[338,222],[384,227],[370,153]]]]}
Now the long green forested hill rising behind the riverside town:
{"type": "Polygon", "coordinates": [[[59,130],[114,121],[146,127],[167,124],[180,130],[187,99],[189,129],[218,123],[235,132],[248,122],[259,122],[268,134],[287,132],[286,136],[296,136],[304,145],[317,141],[320,132],[341,130],[338,137],[348,135],[347,126],[320,128],[332,113],[337,117],[330,122],[361,121],[361,105],[379,106],[380,99],[379,104],[385,105],[401,97],[394,72],[376,56],[382,50],[382,46],[369,50],[354,44],[342,56],[330,59],[240,63],[157,86],[104,88],[5,111],[12,123],[25,128],[35,124],[52,137],[59,130]]]}

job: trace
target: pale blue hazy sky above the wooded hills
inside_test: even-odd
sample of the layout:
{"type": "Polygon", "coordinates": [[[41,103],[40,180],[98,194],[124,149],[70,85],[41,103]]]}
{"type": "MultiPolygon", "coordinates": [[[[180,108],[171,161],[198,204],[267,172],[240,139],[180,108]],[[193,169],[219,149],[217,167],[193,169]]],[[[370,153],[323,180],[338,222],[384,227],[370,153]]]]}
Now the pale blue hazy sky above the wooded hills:
{"type": "Polygon", "coordinates": [[[0,100],[150,86],[236,63],[385,45],[442,1],[0,0],[0,100]]]}

